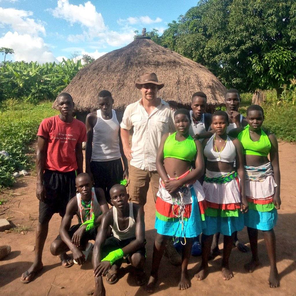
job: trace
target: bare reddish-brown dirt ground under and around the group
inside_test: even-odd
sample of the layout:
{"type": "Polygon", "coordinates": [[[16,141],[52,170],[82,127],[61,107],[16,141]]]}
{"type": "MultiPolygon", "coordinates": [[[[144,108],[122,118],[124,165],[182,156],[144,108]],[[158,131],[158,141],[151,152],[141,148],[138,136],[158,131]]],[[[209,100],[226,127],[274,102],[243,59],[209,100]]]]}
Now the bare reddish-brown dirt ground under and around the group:
{"type": "MultiPolygon", "coordinates": [[[[180,268],[170,265],[167,258],[163,258],[160,265],[159,286],[154,295],[276,295],[296,296],[296,144],[279,143],[280,167],[281,167],[281,200],[278,223],[275,228],[277,238],[277,261],[281,278],[281,286],[277,289],[269,288],[267,284],[269,263],[265,251],[262,233],[259,234],[259,256],[261,268],[252,274],[244,271],[244,263],[250,259],[250,252],[240,253],[233,249],[231,253],[231,268],[234,278],[223,281],[221,278],[221,257],[210,262],[210,274],[199,282],[193,275],[200,264],[200,257],[192,257],[189,264],[189,274],[192,278],[192,287],[186,291],[178,291],[177,285],[180,268]]],[[[31,226],[32,231],[26,234],[0,232],[0,245],[9,244],[12,252],[0,261],[0,295],[1,296],[59,296],[59,295],[90,295],[94,287],[91,260],[88,259],[83,266],[74,265],[71,268],[63,268],[58,258],[49,252],[49,246],[57,236],[60,225],[60,217],[54,215],[49,224],[49,234],[46,239],[43,264],[44,268],[39,277],[29,284],[20,282],[21,274],[32,264],[34,258],[35,229],[38,217],[38,200],[35,195],[36,178],[26,176],[18,179],[17,185],[8,195],[8,202],[0,206],[0,218],[8,218],[15,224],[31,226]],[[9,209],[5,210],[5,208],[9,209]],[[3,214],[2,214],[3,213],[3,214]],[[2,214],[2,215],[1,215],[2,214]]],[[[152,192],[149,189],[145,206],[145,223],[147,239],[146,274],[149,274],[152,261],[152,249],[155,237],[155,205],[152,192]]],[[[75,223],[76,221],[73,221],[75,223]]],[[[239,233],[243,242],[248,242],[247,231],[239,233]]],[[[220,239],[221,242],[221,239],[220,239]]],[[[247,244],[249,246],[249,244],[247,244]]],[[[220,249],[222,244],[220,243],[220,249]]],[[[126,267],[124,265],[123,267],[126,267]]],[[[129,275],[129,268],[125,268],[126,275],[117,284],[105,284],[107,296],[149,295],[143,287],[136,287],[135,281],[129,275]]]]}

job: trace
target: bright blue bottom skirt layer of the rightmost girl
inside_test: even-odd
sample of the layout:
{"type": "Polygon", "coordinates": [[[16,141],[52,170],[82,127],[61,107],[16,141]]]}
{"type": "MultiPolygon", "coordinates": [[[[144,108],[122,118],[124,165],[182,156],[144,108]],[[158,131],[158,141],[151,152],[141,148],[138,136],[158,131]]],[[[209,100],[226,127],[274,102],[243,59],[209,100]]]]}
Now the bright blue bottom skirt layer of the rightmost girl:
{"type": "Polygon", "coordinates": [[[277,210],[273,209],[269,212],[258,212],[249,210],[244,214],[244,225],[258,230],[271,230],[276,226],[277,210]]]}

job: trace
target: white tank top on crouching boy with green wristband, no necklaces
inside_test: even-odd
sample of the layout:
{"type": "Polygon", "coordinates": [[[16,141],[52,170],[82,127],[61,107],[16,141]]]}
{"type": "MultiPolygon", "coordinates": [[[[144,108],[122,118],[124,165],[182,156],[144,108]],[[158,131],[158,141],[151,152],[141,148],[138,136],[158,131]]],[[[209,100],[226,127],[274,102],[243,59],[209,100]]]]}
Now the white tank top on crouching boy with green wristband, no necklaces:
{"type": "Polygon", "coordinates": [[[112,233],[113,236],[116,237],[119,240],[124,239],[131,239],[133,237],[136,237],[136,221],[133,218],[133,203],[129,202],[129,223],[128,227],[125,230],[120,230],[118,227],[118,219],[117,219],[117,209],[113,206],[113,226],[112,226],[112,233]]]}

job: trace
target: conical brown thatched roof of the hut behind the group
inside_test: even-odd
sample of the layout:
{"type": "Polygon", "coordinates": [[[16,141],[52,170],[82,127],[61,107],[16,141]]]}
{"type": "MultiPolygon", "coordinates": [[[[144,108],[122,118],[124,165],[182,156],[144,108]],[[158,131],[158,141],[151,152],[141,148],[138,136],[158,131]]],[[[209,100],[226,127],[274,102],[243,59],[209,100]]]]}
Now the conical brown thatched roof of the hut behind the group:
{"type": "Polygon", "coordinates": [[[158,93],[165,101],[187,105],[194,92],[203,91],[209,105],[224,102],[226,89],[207,68],[148,39],[135,39],[99,57],[81,69],[63,91],[73,96],[78,112],[96,110],[97,94],[103,89],[111,92],[113,108],[123,110],[141,98],[135,82],[146,72],[155,72],[165,83],[158,93]]]}

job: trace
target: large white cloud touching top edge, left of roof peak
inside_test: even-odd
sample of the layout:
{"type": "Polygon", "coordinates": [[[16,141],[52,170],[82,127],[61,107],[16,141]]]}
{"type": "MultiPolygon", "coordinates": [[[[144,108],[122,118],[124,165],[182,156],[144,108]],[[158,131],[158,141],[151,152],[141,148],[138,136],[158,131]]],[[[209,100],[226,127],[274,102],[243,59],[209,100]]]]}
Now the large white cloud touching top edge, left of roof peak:
{"type": "Polygon", "coordinates": [[[88,28],[96,28],[98,31],[105,29],[101,13],[96,12],[96,7],[87,1],[84,5],[70,4],[69,0],[58,0],[57,7],[50,10],[54,17],[67,20],[70,24],[80,23],[88,28]]]}

